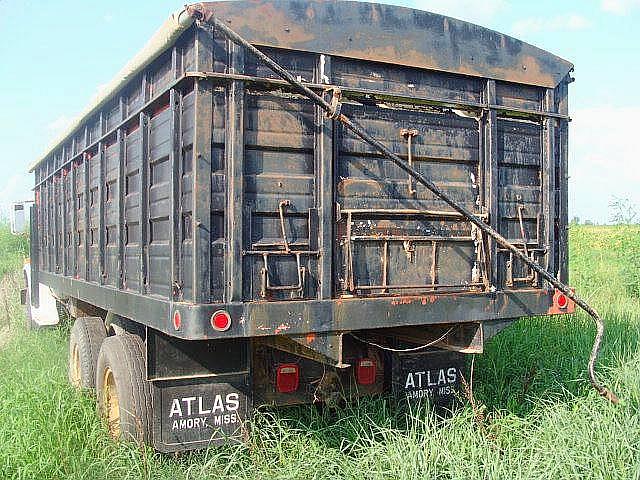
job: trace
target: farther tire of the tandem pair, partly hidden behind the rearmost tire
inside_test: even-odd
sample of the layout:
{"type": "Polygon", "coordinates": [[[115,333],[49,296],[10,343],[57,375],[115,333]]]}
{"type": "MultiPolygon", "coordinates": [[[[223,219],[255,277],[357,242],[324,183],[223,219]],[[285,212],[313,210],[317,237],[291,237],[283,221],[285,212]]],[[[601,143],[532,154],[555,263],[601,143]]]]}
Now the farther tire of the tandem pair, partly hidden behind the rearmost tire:
{"type": "Polygon", "coordinates": [[[69,382],[78,390],[93,392],[100,346],[107,338],[100,317],[78,317],[69,337],[69,382]]]}

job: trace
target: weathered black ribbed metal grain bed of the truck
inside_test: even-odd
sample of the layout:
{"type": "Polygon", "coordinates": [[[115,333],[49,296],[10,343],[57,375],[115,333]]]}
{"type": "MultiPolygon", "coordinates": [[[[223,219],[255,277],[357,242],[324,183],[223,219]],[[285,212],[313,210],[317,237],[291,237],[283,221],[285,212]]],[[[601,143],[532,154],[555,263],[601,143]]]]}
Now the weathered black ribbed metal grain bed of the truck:
{"type": "MultiPolygon", "coordinates": [[[[566,281],[571,64],[406,8],[198,9],[339,90],[344,114],[566,281]]],[[[41,282],[193,340],[553,312],[535,272],[184,15],[34,165],[41,282]]]]}

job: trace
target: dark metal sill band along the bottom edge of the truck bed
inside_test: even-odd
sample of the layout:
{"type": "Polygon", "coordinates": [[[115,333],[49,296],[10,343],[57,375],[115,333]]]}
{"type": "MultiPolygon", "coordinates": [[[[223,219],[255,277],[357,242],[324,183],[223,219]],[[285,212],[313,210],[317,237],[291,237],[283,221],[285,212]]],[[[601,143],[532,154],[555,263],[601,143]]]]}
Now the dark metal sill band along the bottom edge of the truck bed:
{"type": "Polygon", "coordinates": [[[118,290],[41,272],[41,281],[61,296],[70,296],[131,318],[185,340],[304,335],[407,325],[477,322],[550,315],[553,290],[529,289],[494,293],[433,293],[426,295],[342,298],[313,301],[192,304],[118,290]],[[211,316],[227,311],[231,327],[211,325],[211,316]],[[180,328],[173,315],[180,312],[180,328]]]}

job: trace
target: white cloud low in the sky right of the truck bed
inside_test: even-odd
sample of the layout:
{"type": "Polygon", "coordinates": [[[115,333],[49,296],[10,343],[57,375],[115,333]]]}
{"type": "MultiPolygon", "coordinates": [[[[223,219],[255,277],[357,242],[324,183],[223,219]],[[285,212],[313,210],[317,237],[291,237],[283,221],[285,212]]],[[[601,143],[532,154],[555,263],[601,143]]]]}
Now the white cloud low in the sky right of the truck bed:
{"type": "Polygon", "coordinates": [[[613,197],[640,206],[640,106],[579,109],[569,124],[569,211],[606,222],[613,197]]]}

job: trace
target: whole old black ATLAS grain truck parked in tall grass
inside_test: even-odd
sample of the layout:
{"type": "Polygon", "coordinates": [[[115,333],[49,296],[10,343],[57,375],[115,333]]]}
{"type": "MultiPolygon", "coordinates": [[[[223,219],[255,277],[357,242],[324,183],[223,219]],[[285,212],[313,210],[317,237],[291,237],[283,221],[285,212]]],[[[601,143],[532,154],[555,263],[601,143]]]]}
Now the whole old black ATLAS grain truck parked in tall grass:
{"type": "Polygon", "coordinates": [[[575,308],[572,70],[409,8],[187,6],[31,167],[30,324],[72,319],[71,383],[162,452],[261,405],[447,404],[575,308]]]}

